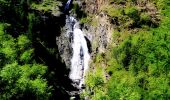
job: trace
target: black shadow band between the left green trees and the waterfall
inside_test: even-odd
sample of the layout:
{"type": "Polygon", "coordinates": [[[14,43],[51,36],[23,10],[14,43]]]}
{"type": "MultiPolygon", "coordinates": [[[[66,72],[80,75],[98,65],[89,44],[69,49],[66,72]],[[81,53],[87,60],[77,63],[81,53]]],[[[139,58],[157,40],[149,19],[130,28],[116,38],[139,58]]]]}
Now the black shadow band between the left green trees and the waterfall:
{"type": "Polygon", "coordinates": [[[51,99],[69,100],[69,92],[76,90],[69,79],[69,69],[61,62],[56,45],[56,36],[60,36],[61,27],[65,25],[65,15],[53,16],[51,14],[40,14],[41,21],[34,27],[33,47],[35,48],[35,59],[39,63],[48,66],[47,80],[54,90],[51,99]],[[55,52],[51,52],[53,49],[55,52]]]}

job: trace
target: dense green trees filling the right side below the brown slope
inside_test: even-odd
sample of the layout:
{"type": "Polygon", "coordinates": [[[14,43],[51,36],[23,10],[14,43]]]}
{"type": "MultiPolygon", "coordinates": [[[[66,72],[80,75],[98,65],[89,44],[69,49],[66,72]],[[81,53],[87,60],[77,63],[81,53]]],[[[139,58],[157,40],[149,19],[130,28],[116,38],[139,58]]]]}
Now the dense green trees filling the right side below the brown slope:
{"type": "Polygon", "coordinates": [[[110,99],[169,98],[169,19],[164,20],[163,26],[131,35],[113,50],[114,59],[123,69],[113,69],[108,82],[110,99]]]}

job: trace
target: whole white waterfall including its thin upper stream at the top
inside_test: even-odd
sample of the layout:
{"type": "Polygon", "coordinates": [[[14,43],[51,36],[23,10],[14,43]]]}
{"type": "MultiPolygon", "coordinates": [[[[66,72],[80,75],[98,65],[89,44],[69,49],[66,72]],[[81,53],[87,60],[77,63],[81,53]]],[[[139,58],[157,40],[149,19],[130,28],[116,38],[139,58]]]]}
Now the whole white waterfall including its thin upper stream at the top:
{"type": "MultiPolygon", "coordinates": [[[[69,9],[72,0],[68,0],[64,12],[69,9]]],[[[87,42],[82,30],[78,27],[78,21],[73,17],[66,15],[66,26],[68,26],[69,36],[72,37],[73,55],[71,58],[71,68],[69,78],[73,81],[74,85],[81,88],[84,84],[85,73],[88,69],[90,60],[87,42]]]]}

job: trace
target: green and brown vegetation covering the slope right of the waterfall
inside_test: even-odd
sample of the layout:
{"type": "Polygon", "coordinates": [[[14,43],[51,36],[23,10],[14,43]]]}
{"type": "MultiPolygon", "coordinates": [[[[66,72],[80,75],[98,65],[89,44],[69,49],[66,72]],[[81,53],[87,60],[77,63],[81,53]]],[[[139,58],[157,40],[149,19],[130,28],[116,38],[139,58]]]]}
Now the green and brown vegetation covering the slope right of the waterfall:
{"type": "Polygon", "coordinates": [[[113,42],[97,54],[86,79],[91,100],[170,98],[168,0],[110,0],[113,42]],[[116,44],[116,46],[115,46],[116,44]],[[105,77],[104,77],[105,76],[105,77]]]}

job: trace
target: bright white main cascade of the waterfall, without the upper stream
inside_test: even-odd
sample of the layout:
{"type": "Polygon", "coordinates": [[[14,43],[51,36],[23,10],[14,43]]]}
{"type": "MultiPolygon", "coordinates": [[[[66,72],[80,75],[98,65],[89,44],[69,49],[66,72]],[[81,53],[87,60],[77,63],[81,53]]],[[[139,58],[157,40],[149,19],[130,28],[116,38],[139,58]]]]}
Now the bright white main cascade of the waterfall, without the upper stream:
{"type": "MultiPolygon", "coordinates": [[[[73,17],[70,17],[71,21],[76,21],[73,17]]],[[[71,71],[70,79],[73,82],[78,83],[79,88],[84,84],[85,73],[88,69],[88,62],[90,55],[88,52],[87,42],[81,29],[76,27],[74,24],[73,28],[73,56],[71,59],[71,71]]]]}

